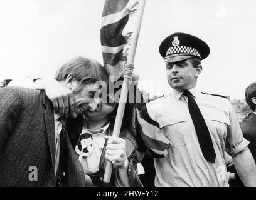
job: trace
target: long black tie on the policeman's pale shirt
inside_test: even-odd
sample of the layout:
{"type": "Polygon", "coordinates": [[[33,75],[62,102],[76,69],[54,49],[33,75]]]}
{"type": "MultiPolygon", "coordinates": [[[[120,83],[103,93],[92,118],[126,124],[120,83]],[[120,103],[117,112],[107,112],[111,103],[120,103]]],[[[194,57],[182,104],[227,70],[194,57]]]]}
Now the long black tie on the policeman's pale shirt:
{"type": "Polygon", "coordinates": [[[196,135],[198,136],[203,157],[205,157],[206,161],[214,163],[216,154],[213,148],[209,130],[205,123],[205,119],[203,119],[201,111],[198,108],[192,94],[189,91],[184,91],[183,95],[188,97],[188,109],[196,129],[196,135]]]}

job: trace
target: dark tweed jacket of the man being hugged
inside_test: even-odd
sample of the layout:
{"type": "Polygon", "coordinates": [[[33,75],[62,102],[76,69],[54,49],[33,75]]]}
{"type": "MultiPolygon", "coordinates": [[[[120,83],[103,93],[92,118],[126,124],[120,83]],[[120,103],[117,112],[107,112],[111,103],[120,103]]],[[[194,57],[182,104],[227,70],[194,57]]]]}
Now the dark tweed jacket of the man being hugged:
{"type": "MultiPolygon", "coordinates": [[[[82,166],[68,137],[67,186],[86,186],[82,166]]],[[[0,89],[0,187],[55,187],[53,107],[43,91],[0,89]],[[37,177],[29,179],[37,169],[37,177]],[[33,167],[33,169],[35,169],[33,167]]]]}

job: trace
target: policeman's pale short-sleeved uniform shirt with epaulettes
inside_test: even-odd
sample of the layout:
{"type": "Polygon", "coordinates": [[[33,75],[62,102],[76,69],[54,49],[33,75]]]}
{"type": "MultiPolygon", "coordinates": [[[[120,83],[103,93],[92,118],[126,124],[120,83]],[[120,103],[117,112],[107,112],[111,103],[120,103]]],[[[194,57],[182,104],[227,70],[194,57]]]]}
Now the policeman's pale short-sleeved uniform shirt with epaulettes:
{"type": "Polygon", "coordinates": [[[170,148],[164,158],[155,158],[156,187],[228,187],[224,151],[235,156],[249,142],[226,98],[189,90],[205,119],[216,153],[215,163],[205,160],[188,109],[187,97],[171,94],[146,104],[151,119],[159,123],[170,148]]]}

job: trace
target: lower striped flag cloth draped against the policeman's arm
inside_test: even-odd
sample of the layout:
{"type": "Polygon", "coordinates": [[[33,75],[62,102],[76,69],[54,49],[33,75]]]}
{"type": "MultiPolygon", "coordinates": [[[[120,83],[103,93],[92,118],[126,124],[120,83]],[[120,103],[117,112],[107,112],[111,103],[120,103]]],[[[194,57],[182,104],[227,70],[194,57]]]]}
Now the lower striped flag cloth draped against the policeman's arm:
{"type": "Polygon", "coordinates": [[[141,91],[137,88],[137,84],[130,86],[129,93],[129,98],[131,97],[131,93],[133,93],[134,98],[129,99],[129,101],[133,102],[129,130],[138,143],[137,150],[146,152],[147,148],[154,157],[166,156],[168,149],[171,147],[170,141],[164,136],[163,130],[160,128],[159,123],[157,123],[157,119],[151,117],[158,108],[157,99],[146,103],[141,91]]]}

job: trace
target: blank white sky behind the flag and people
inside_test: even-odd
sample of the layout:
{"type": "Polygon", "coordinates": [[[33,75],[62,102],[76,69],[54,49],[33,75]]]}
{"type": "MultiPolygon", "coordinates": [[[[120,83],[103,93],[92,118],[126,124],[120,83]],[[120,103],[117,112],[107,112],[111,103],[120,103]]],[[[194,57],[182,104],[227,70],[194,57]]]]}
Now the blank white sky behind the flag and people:
{"type": "MultiPolygon", "coordinates": [[[[75,56],[102,63],[103,0],[0,0],[0,80],[51,78],[75,56]]],[[[174,32],[210,46],[198,89],[244,99],[256,81],[255,0],[146,0],[134,72],[151,96],[169,93],[159,44],[174,32]]]]}

